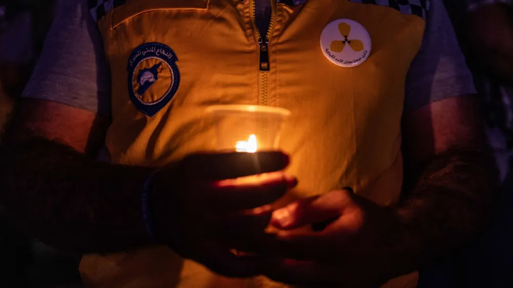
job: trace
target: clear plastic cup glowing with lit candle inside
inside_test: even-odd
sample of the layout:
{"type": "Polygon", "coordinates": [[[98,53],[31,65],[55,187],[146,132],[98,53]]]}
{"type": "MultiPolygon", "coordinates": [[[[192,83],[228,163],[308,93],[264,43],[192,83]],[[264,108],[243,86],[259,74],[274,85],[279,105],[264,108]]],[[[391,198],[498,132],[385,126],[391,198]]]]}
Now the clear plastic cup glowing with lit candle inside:
{"type": "Polygon", "coordinates": [[[280,132],[290,111],[254,105],[216,105],[207,108],[216,122],[216,149],[253,153],[277,150],[280,132]]]}

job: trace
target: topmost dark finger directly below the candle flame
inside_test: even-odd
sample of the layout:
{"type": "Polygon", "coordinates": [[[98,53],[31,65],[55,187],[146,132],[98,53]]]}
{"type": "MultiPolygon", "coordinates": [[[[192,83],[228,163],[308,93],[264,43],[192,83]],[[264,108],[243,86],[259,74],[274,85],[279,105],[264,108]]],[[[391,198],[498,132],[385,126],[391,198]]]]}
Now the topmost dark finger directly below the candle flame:
{"type": "Polygon", "coordinates": [[[283,170],[289,157],[278,151],[193,154],[182,164],[201,179],[221,180],[283,170]]]}

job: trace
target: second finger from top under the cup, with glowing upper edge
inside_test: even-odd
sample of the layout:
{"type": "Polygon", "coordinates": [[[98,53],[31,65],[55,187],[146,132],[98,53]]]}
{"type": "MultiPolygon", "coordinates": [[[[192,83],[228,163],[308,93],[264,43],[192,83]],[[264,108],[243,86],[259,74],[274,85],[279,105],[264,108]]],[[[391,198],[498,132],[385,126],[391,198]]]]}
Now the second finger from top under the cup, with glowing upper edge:
{"type": "Polygon", "coordinates": [[[204,197],[213,211],[240,211],[272,203],[297,183],[282,172],[266,173],[214,182],[204,197]]]}

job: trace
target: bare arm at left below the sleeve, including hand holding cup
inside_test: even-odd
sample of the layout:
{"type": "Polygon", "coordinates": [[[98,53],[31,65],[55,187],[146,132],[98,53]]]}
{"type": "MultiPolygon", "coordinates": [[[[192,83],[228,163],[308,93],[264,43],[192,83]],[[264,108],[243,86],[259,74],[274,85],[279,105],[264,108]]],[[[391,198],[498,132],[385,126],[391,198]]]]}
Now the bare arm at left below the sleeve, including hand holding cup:
{"type": "MultiPolygon", "coordinates": [[[[84,155],[103,142],[105,124],[92,112],[25,100],[0,150],[2,214],[37,239],[61,249],[113,252],[151,244],[141,197],[153,169],[98,162],[84,155]]],[[[187,217],[196,212],[214,219],[215,213],[256,208],[279,198],[286,190],[286,179],[244,187],[207,185],[210,180],[278,171],[287,164],[278,152],[255,156],[259,168],[251,164],[253,155],[212,154],[187,157],[157,174],[148,207],[154,210],[159,240],[171,244],[177,236],[191,237],[180,221],[187,221],[196,231],[192,227],[203,219],[187,217]],[[218,171],[218,167],[224,169],[218,171]],[[232,195],[240,190],[245,191],[232,195]],[[216,211],[209,205],[215,205],[216,211]]],[[[218,227],[219,223],[209,224],[218,227]]],[[[262,230],[266,224],[262,222],[262,230]]]]}

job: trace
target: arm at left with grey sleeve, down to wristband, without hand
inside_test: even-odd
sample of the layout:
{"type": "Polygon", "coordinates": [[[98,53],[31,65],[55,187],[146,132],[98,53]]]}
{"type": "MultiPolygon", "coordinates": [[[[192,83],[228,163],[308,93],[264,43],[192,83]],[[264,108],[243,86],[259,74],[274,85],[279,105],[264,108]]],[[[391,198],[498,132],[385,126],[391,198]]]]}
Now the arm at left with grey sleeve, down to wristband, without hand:
{"type": "Polygon", "coordinates": [[[31,98],[22,98],[0,147],[0,213],[65,250],[145,244],[140,198],[148,170],[93,160],[110,124],[102,116],[110,111],[103,109],[110,71],[100,32],[86,1],[61,1],[56,10],[23,93],[31,98]]]}

